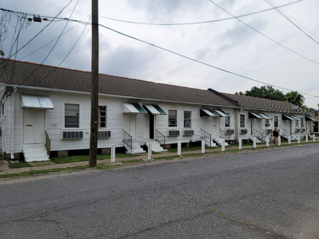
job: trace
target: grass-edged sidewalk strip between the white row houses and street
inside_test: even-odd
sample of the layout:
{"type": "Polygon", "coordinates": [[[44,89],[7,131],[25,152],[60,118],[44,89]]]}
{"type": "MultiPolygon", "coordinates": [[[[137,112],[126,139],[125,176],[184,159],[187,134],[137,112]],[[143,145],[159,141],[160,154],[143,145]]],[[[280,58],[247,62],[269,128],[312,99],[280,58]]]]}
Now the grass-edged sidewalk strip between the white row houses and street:
{"type": "MultiPolygon", "coordinates": [[[[302,141],[301,143],[305,143],[302,141]]],[[[312,141],[309,141],[309,143],[312,143],[312,141]]],[[[316,143],[319,143],[318,141],[316,143]]],[[[287,143],[281,143],[282,145],[287,145],[287,143]]],[[[292,142],[292,144],[297,144],[297,142],[292,142]]],[[[266,143],[263,144],[257,144],[257,148],[259,147],[265,147],[266,143]]],[[[275,147],[274,143],[270,142],[269,146],[275,147]]],[[[249,146],[242,146],[242,149],[249,149],[253,148],[253,145],[249,146]]],[[[239,149],[238,146],[226,146],[225,147],[225,152],[227,153],[228,150],[234,150],[234,149],[239,149]]],[[[193,151],[186,151],[182,152],[182,155],[189,155],[189,154],[201,154],[201,150],[193,150],[193,151]]],[[[206,153],[209,152],[221,152],[221,147],[214,147],[213,149],[206,149],[206,153]]],[[[160,154],[153,154],[153,159],[159,158],[159,157],[165,157],[165,156],[174,156],[176,155],[176,158],[178,158],[177,153],[171,153],[171,152],[161,152],[160,154]]],[[[191,155],[190,155],[191,157],[191,155]]],[[[116,163],[120,163],[121,161],[127,161],[127,160],[136,160],[136,159],[142,159],[142,160],[147,160],[147,153],[142,153],[142,154],[137,154],[136,157],[128,157],[128,158],[117,158],[115,159],[116,163]]],[[[98,160],[97,164],[102,164],[110,163],[110,159],[105,159],[105,160],[98,160]]],[[[5,174],[5,173],[19,173],[19,172],[27,172],[30,170],[45,170],[45,169],[53,169],[53,168],[66,168],[66,167],[76,167],[76,166],[88,166],[89,162],[88,161],[82,161],[82,162],[74,162],[74,163],[66,163],[66,164],[54,164],[51,161],[45,161],[45,162],[34,162],[34,163],[29,163],[33,167],[21,167],[21,168],[9,168],[9,163],[6,160],[0,160],[0,174],[5,174]],[[2,171],[1,171],[2,170],[2,171]]]]}

